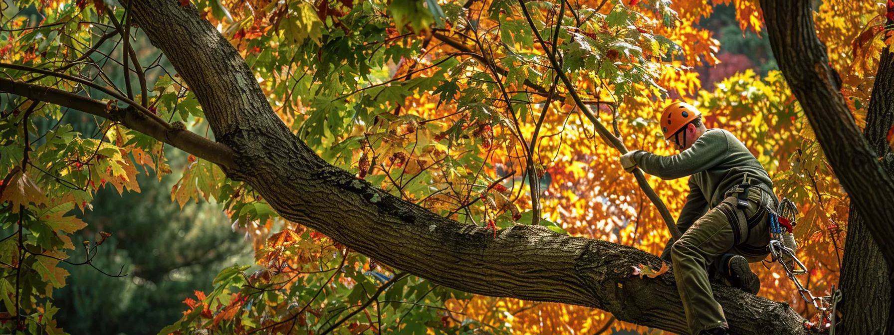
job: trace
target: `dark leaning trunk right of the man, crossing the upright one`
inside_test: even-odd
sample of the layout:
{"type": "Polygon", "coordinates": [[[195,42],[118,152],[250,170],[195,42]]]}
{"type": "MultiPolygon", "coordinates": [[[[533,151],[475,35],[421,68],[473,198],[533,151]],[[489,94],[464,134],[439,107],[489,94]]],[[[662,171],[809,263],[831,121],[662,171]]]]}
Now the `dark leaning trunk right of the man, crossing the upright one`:
{"type": "MultiPolygon", "coordinates": [[[[840,95],[838,73],[816,36],[810,0],[761,0],[773,55],[851,204],[894,265],[894,182],[840,95]]],[[[876,96],[873,94],[873,99],[876,96]]]]}

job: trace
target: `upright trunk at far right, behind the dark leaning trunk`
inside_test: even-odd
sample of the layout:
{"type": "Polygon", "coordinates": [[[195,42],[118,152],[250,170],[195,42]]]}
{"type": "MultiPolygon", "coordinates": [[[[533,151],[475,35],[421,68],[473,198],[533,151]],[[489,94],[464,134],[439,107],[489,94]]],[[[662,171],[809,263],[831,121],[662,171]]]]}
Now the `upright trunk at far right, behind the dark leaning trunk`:
{"type": "MultiPolygon", "coordinates": [[[[894,121],[894,54],[887,48],[882,51],[879,69],[875,74],[873,95],[866,114],[864,137],[889,175],[894,175],[894,157],[891,156],[886,136],[894,121]]],[[[844,259],[841,264],[839,284],[844,293],[841,301],[841,331],[844,334],[882,334],[885,320],[891,329],[891,277],[881,249],[875,244],[867,222],[850,207],[848,237],[845,241],[844,259]]]]}

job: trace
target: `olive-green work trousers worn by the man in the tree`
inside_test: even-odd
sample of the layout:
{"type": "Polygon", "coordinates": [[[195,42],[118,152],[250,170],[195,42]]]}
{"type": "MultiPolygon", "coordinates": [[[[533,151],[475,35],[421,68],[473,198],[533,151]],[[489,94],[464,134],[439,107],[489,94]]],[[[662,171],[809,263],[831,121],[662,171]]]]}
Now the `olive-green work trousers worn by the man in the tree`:
{"type": "Polygon", "coordinates": [[[752,188],[745,210],[736,207],[735,197],[727,197],[696,220],[671,247],[674,279],[693,335],[729,327],[723,308],[714,300],[708,268],[724,254],[743,255],[748,262],[760,262],[767,255],[770,215],[764,204],[770,200],[764,193],[752,188]]]}

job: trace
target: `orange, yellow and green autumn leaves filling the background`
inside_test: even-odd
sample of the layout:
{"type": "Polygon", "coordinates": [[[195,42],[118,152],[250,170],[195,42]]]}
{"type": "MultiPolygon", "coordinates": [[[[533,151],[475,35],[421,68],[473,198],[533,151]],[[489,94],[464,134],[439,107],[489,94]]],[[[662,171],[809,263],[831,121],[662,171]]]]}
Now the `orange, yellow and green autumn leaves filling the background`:
{"type": "MultiPolygon", "coordinates": [[[[86,79],[213,137],[195,94],[164,55],[131,57],[125,50],[138,42],[151,48],[125,8],[82,0],[0,4],[9,3],[16,8],[4,8],[4,15],[28,8],[41,15],[4,16],[0,62],[86,79]],[[123,35],[131,40],[123,42],[123,35]],[[128,72],[126,82],[108,80],[114,72],[128,72]]],[[[436,214],[491,229],[494,237],[512,225],[539,224],[654,255],[670,239],[655,206],[571,100],[546,54],[558,55],[590,111],[631,149],[674,154],[661,138],[657,111],[669,98],[694,103],[708,127],[742,139],[771,173],[776,193],[799,206],[798,255],[811,269],[802,281],[826,293],[838,281],[848,197],[779,71],[745,71],[702,88],[694,68],[718,63],[722,46],[697,22],[717,4],[735,6],[741,29],[762,31],[752,0],[527,2],[546,48],[510,0],[181,0],[236,47],[274,111],[327,162],[436,214]]],[[[883,26],[894,20],[890,6],[832,0],[815,13],[860,126],[878,54],[891,46],[883,26]]],[[[110,99],[110,109],[127,105],[71,79],[10,67],[4,76],[110,99]]],[[[96,134],[80,133],[65,119],[77,112],[58,105],[16,96],[2,103],[0,329],[63,333],[52,294],[68,272],[57,265],[89,264],[108,238],[97,233],[92,243],[73,245],[72,234],[90,224],[78,213],[90,210],[98,188],[139,192],[136,175],[171,173],[164,153],[172,148],[111,120],[97,119],[96,134]]],[[[251,240],[256,262],[223,269],[212,291],[178,297],[183,316],[161,333],[646,331],[591,308],[435,285],[283,220],[214,163],[190,155],[185,166],[171,197],[180,205],[220,205],[232,230],[251,240]]],[[[686,180],[648,180],[679,214],[686,180]]],[[[633,275],[647,281],[666,265],[644,264],[633,275]]],[[[819,322],[778,264],[752,267],[763,282],[760,296],[788,301],[819,322]]]]}

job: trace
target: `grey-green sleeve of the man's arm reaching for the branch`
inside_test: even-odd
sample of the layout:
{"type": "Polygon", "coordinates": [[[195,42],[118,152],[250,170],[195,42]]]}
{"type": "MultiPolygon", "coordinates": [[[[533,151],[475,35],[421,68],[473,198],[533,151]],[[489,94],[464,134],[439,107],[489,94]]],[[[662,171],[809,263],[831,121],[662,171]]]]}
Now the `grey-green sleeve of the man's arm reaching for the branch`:
{"type": "Polygon", "coordinates": [[[663,180],[675,180],[721,163],[729,149],[730,142],[723,130],[708,130],[692,147],[677,155],[662,156],[639,151],[633,159],[643,172],[663,180]]]}

